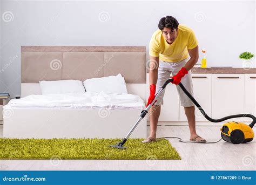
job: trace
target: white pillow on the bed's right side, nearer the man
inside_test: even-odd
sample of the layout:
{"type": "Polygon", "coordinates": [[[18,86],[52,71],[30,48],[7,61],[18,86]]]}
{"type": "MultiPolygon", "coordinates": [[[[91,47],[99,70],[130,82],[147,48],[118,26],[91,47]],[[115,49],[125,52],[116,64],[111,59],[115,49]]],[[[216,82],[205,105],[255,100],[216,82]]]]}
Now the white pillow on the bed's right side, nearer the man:
{"type": "Polygon", "coordinates": [[[102,78],[90,78],[83,82],[86,92],[126,93],[127,88],[124,77],[119,73],[117,76],[102,78]]]}

